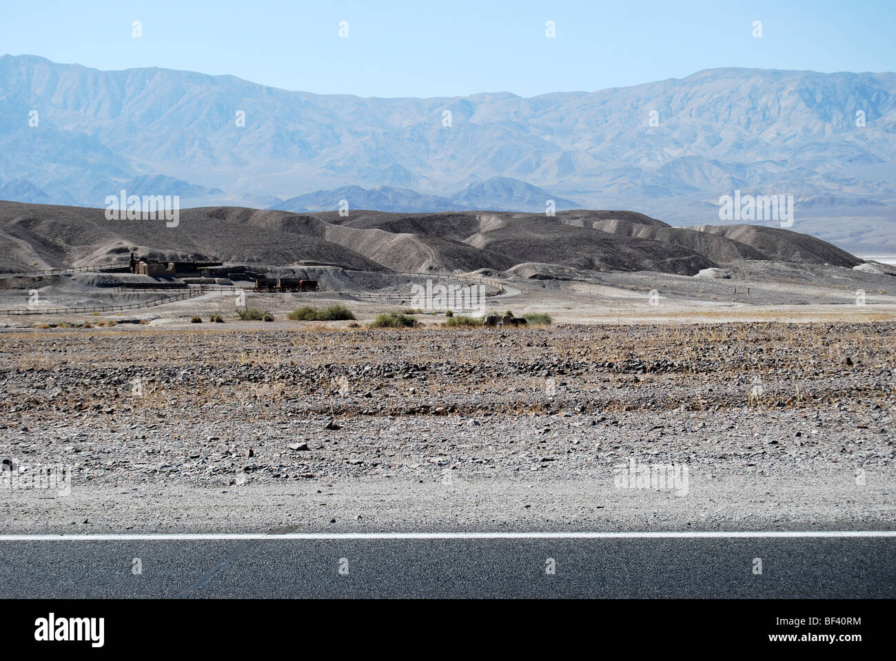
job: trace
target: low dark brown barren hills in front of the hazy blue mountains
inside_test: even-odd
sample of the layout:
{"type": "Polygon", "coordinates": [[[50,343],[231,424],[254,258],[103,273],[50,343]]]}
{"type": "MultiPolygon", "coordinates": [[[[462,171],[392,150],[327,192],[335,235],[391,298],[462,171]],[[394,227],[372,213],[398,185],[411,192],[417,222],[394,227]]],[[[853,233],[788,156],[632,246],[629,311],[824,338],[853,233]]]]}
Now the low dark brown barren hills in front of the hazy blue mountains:
{"type": "Polygon", "coordinates": [[[0,270],[87,265],[132,249],[168,258],[263,264],[322,262],[349,270],[504,271],[524,263],[694,275],[738,261],[855,266],[813,236],[759,226],[669,227],[634,211],[556,216],[494,211],[292,213],[243,207],[163,219],[108,220],[104,210],[0,202],[0,270]]]}

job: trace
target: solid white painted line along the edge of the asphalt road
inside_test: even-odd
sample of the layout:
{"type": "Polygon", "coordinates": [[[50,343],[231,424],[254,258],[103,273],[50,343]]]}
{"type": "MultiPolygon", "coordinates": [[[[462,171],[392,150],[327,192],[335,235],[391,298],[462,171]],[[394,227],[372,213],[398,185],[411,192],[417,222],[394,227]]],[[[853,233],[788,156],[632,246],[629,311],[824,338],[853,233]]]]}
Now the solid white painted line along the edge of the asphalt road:
{"type": "Polygon", "coordinates": [[[896,530],[754,530],[652,532],[374,532],[374,533],[150,533],[134,535],[0,535],[2,542],[243,541],[289,539],[716,539],[896,537],[896,530]]]}

